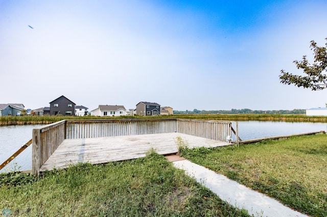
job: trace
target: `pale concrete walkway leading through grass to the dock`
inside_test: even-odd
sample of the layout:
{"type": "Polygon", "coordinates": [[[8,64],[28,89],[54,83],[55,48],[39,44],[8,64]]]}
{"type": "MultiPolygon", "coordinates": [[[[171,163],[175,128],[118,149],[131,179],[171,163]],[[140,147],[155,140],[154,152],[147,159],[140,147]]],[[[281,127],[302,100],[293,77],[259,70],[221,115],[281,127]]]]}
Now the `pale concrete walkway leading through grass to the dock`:
{"type": "Polygon", "coordinates": [[[307,216],[278,201],[178,156],[168,156],[176,168],[195,178],[229,204],[248,210],[254,216],[307,216]]]}

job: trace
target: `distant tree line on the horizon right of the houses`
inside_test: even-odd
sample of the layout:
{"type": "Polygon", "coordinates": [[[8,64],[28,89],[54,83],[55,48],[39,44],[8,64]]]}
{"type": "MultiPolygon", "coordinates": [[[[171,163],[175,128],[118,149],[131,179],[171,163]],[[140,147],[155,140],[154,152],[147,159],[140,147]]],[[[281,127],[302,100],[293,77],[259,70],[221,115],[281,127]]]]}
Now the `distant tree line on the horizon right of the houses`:
{"type": "Polygon", "coordinates": [[[194,108],[193,111],[176,111],[174,110],[174,114],[306,114],[306,110],[304,109],[294,109],[294,110],[250,110],[249,108],[242,108],[240,110],[232,108],[231,110],[197,110],[194,108]]]}

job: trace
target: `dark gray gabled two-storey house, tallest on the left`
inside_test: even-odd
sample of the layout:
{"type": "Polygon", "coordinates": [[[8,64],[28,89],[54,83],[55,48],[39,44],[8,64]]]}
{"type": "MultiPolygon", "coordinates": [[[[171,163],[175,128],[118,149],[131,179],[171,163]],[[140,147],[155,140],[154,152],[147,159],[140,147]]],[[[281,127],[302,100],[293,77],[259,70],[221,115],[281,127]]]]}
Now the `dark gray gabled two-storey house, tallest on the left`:
{"type": "Polygon", "coordinates": [[[75,116],[75,103],[65,96],[50,102],[50,115],[75,116]]]}

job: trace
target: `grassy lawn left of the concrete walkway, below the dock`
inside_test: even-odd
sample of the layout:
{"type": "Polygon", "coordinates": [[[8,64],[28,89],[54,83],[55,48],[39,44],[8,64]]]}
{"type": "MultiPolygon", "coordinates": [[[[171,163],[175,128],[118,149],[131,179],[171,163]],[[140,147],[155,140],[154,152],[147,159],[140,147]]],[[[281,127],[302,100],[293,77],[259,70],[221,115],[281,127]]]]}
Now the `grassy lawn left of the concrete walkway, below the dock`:
{"type": "Polygon", "coordinates": [[[248,216],[156,153],[106,165],[0,174],[0,215],[248,216]]]}

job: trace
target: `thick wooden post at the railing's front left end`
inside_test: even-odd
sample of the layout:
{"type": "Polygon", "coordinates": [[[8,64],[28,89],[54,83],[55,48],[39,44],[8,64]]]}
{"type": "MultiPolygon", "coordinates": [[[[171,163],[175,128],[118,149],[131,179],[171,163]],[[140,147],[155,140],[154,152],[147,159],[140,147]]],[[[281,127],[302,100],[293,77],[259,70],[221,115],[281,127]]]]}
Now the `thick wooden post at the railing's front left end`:
{"type": "Polygon", "coordinates": [[[41,161],[41,130],[33,129],[32,138],[32,174],[39,176],[41,161]]]}

